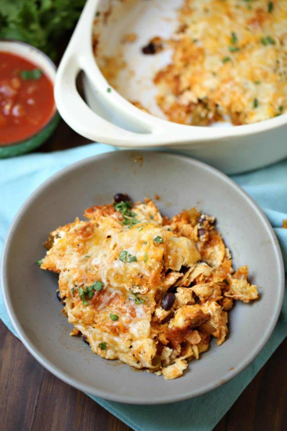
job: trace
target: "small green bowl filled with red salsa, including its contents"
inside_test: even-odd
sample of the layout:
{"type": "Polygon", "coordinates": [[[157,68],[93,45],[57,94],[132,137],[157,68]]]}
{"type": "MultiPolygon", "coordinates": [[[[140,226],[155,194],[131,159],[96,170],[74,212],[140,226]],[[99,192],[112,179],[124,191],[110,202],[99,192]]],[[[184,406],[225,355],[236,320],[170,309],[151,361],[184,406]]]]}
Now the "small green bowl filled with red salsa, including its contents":
{"type": "Polygon", "coordinates": [[[37,48],[0,41],[0,157],[34,150],[55,130],[55,76],[56,66],[37,48]]]}

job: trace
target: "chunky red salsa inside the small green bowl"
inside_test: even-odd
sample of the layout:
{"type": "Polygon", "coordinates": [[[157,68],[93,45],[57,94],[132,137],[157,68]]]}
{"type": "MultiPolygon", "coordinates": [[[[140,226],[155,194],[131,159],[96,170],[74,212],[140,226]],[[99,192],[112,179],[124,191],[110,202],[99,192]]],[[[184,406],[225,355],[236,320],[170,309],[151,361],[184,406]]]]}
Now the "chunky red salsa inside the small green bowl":
{"type": "Polygon", "coordinates": [[[53,84],[39,67],[0,52],[0,144],[34,134],[54,110],[53,84]]]}

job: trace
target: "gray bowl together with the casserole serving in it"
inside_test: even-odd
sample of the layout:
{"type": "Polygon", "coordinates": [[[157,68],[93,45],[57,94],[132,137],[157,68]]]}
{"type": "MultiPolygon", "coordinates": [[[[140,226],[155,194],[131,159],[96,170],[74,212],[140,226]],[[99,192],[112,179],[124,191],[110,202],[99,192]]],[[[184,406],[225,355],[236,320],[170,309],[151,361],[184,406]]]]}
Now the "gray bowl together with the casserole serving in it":
{"type": "MultiPolygon", "coordinates": [[[[53,238],[50,238],[47,247],[52,242],[53,238]]],[[[43,183],[12,222],[3,247],[0,277],[9,318],[22,342],[43,366],[88,394],[134,404],[184,400],[204,394],[233,378],[254,359],[270,337],[284,292],[284,270],[278,240],[253,200],[230,178],[210,166],[183,156],[149,151],[115,151],[93,156],[68,166],[43,183]],[[112,202],[115,191],[125,191],[135,202],[133,207],[129,208],[127,204],[125,209],[125,205],[120,203],[115,203],[116,208],[111,204],[105,206],[112,202]],[[154,197],[155,193],[158,196],[154,197]],[[145,197],[151,200],[136,203],[145,197]],[[87,203],[92,206],[91,210],[86,211],[89,219],[86,222],[72,222],[83,213],[87,203]],[[196,205],[202,218],[194,210],[175,216],[191,205],[196,205]],[[212,224],[212,218],[204,220],[204,214],[216,216],[216,225],[212,224]],[[142,223],[137,223],[137,220],[142,223]],[[97,223],[102,229],[97,227],[97,223]],[[57,233],[54,232],[60,225],[62,230],[60,228],[57,233]],[[84,226],[86,228],[83,229],[84,226]],[[206,229],[206,232],[201,229],[206,229]],[[222,234],[226,247],[231,250],[233,274],[228,272],[229,253],[225,253],[225,246],[216,231],[222,234]],[[61,271],[60,274],[40,270],[35,265],[43,256],[43,242],[47,240],[48,232],[54,232],[55,244],[43,259],[43,267],[48,267],[50,262],[51,269],[61,271]],[[196,233],[202,240],[193,237],[196,233]],[[108,238],[109,235],[111,238],[108,238]],[[217,238],[214,248],[206,247],[210,243],[205,235],[217,238]],[[173,247],[177,253],[171,252],[173,247]],[[209,255],[208,250],[216,250],[216,253],[209,255]],[[200,260],[205,260],[211,267],[200,260]],[[245,281],[246,264],[250,270],[250,286],[260,287],[258,300],[250,303],[233,300],[230,311],[222,310],[223,305],[226,308],[231,305],[233,296],[241,296],[245,291],[247,297],[241,296],[241,299],[256,297],[255,288],[249,287],[245,281]],[[216,268],[218,265],[219,268],[216,268]],[[191,269],[193,267],[203,272],[196,275],[191,269]],[[122,272],[120,269],[123,269],[122,272]],[[144,275],[144,285],[138,274],[144,275]],[[151,274],[154,274],[154,280],[151,274]],[[126,275],[131,280],[127,281],[126,275]],[[179,278],[172,282],[171,278],[178,275],[179,278]],[[157,277],[160,279],[161,276],[166,281],[166,287],[173,283],[170,285],[172,289],[159,290],[156,296],[155,286],[162,286],[157,282],[157,277]],[[194,280],[190,281],[191,278],[194,280]],[[68,323],[56,298],[58,281],[58,297],[66,303],[66,313],[70,321],[74,320],[72,323],[68,323]],[[146,287],[148,291],[145,291],[146,287]],[[164,299],[166,293],[171,295],[164,299]],[[188,296],[185,297],[185,293],[188,296]],[[219,296],[223,298],[218,299],[219,296]],[[99,310],[98,307],[99,311],[95,313],[95,305],[99,306],[100,299],[104,297],[108,301],[111,298],[111,302],[108,305],[102,303],[103,308],[99,310]],[[124,297],[126,300],[123,300],[124,297]],[[186,305],[185,300],[189,302],[186,305]],[[153,319],[148,306],[154,307],[153,319]],[[170,309],[165,309],[170,306],[170,309]],[[213,328],[219,329],[211,316],[215,315],[213,311],[216,309],[223,318],[221,332],[213,332],[208,349],[199,353],[199,360],[188,362],[180,378],[166,380],[152,373],[135,372],[137,369],[126,363],[105,359],[120,356],[126,349],[126,362],[140,366],[141,361],[148,359],[141,356],[144,353],[140,347],[141,340],[148,338],[150,344],[145,345],[150,345],[152,349],[158,337],[162,337],[162,346],[159,340],[157,343],[162,351],[159,350],[155,356],[162,357],[160,361],[164,367],[161,365],[160,368],[158,363],[157,371],[168,369],[163,351],[170,361],[173,360],[172,354],[178,353],[173,362],[179,359],[179,365],[185,367],[188,358],[183,359],[185,352],[178,352],[177,340],[170,335],[176,333],[173,331],[176,325],[183,325],[179,332],[185,336],[186,322],[176,321],[175,317],[180,318],[187,310],[196,312],[200,308],[202,313],[197,316],[205,319],[204,316],[208,315],[208,319],[201,324],[197,322],[201,328],[197,326],[186,332],[193,334],[186,343],[194,350],[192,356],[186,347],[189,357],[196,357],[203,347],[207,347],[210,332],[213,328]],[[216,341],[220,343],[226,332],[226,312],[229,332],[224,343],[218,346],[216,341]],[[163,314],[168,313],[171,315],[167,316],[167,322],[154,321],[155,317],[160,320],[163,314]],[[130,319],[129,325],[125,325],[127,319],[130,319]],[[138,326],[136,319],[140,322],[138,326]],[[91,326],[92,320],[95,328],[91,326]],[[69,336],[73,329],[76,331],[75,328],[83,331],[87,337],[85,340],[90,342],[92,348],[83,342],[81,336],[69,336]],[[147,334],[153,331],[155,338],[146,337],[145,331],[147,334]],[[168,344],[164,344],[164,335],[167,340],[171,338],[168,344]],[[130,339],[132,343],[126,344],[130,339]],[[95,355],[92,349],[99,354],[95,355]],[[133,354],[138,356],[136,360],[133,354]]],[[[192,326],[189,325],[191,313],[186,317],[189,319],[188,326],[192,326]]],[[[182,341],[180,346],[183,347],[184,343],[182,341]]],[[[151,365],[154,367],[156,364],[151,365]]],[[[154,368],[152,370],[156,371],[154,368]]],[[[171,376],[173,372],[179,371],[171,369],[171,376]]]]}

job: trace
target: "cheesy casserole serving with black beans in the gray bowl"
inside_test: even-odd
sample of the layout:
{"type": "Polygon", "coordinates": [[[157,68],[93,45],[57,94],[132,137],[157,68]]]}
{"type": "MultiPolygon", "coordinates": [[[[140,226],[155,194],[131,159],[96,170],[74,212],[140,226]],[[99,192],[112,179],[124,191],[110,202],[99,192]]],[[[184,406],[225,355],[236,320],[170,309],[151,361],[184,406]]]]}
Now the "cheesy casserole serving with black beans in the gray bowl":
{"type": "Polygon", "coordinates": [[[146,200],[127,213],[110,204],[85,216],[51,232],[41,269],[59,273],[71,334],[102,357],[179,377],[210,335],[224,342],[233,299],[258,297],[207,214],[192,208],[163,219],[146,200]],[[170,309],[161,306],[167,291],[170,309]]]}

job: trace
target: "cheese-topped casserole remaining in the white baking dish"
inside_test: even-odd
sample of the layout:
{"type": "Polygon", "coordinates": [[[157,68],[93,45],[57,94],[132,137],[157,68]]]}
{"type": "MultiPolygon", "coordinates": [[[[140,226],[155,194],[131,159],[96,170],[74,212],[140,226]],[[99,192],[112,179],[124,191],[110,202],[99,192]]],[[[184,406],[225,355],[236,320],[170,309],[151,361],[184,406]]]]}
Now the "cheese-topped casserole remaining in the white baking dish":
{"type": "Polygon", "coordinates": [[[154,81],[170,121],[235,125],[287,109],[287,1],[185,0],[173,61],[154,81]]]}

